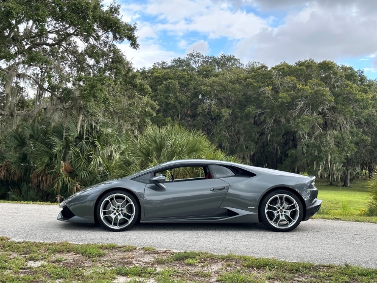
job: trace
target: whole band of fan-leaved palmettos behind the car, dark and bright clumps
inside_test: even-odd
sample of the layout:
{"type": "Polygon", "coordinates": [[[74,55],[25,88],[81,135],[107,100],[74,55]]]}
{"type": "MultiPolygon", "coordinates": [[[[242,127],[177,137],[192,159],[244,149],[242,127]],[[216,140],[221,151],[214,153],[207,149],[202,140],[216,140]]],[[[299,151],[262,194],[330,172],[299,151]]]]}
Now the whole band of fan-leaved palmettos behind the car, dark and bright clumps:
{"type": "Polygon", "coordinates": [[[96,183],[185,158],[238,161],[202,132],[179,125],[149,126],[133,137],[108,121],[78,128],[75,117],[55,125],[34,121],[6,135],[0,150],[0,193],[10,200],[60,202],[96,183]]]}

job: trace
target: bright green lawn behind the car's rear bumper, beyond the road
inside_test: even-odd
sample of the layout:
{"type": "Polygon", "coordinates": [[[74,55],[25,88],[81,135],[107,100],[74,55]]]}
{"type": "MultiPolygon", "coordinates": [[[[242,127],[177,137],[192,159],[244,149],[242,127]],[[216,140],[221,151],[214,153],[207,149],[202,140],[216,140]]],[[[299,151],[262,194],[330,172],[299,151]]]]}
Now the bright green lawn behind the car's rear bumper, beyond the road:
{"type": "Polygon", "coordinates": [[[366,217],[369,202],[368,181],[351,184],[351,188],[330,186],[324,181],[316,181],[318,198],[323,199],[321,211],[314,218],[336,219],[377,223],[377,217],[366,217]]]}

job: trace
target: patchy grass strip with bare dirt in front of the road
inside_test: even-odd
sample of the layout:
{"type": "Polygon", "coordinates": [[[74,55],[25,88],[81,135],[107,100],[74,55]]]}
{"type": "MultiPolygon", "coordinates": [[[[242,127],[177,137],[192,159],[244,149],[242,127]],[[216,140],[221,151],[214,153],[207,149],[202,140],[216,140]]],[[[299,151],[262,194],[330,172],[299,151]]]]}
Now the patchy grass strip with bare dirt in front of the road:
{"type": "Polygon", "coordinates": [[[377,269],[350,265],[0,237],[1,283],[376,283],[376,278],[377,269]]]}

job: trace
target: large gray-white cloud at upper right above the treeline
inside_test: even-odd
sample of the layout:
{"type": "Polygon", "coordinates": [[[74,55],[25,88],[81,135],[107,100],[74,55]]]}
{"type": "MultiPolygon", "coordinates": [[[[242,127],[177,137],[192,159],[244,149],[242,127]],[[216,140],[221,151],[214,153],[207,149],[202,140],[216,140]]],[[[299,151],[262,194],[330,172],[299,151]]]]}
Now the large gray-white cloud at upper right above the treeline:
{"type": "Polygon", "coordinates": [[[377,18],[363,17],[362,9],[354,4],[320,6],[313,2],[288,14],[284,25],[241,40],[235,55],[269,65],[308,58],[362,57],[377,49],[376,26],[377,18]]]}

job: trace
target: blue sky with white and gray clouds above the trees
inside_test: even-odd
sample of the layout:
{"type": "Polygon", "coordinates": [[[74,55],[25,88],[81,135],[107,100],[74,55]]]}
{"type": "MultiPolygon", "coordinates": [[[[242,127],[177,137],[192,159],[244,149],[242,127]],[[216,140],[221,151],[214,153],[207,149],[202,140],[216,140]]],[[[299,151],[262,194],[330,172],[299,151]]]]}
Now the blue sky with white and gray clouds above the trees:
{"type": "Polygon", "coordinates": [[[140,48],[119,44],[136,68],[197,51],[269,67],[331,60],[377,78],[377,0],[116,2],[122,19],[137,26],[140,48]]]}

